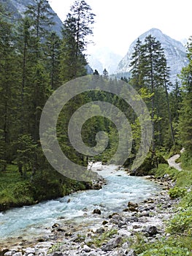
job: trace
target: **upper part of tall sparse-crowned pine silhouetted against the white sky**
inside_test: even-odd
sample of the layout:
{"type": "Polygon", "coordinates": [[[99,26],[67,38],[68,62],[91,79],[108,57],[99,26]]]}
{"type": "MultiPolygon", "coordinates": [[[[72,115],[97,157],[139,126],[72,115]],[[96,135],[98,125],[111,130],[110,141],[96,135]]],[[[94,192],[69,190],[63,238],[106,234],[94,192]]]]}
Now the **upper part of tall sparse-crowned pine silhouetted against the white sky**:
{"type": "Polygon", "coordinates": [[[68,81],[86,75],[85,50],[93,34],[94,14],[85,1],[74,1],[64,21],[61,45],[61,80],[68,81]]]}

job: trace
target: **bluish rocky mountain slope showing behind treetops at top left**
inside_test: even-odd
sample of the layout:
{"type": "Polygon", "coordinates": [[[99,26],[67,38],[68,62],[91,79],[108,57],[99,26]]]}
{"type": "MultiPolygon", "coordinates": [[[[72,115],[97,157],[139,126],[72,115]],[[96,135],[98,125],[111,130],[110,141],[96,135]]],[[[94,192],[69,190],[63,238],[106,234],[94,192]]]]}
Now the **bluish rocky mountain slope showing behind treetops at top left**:
{"type": "MultiPolygon", "coordinates": [[[[18,20],[22,18],[23,12],[26,11],[26,7],[30,5],[34,5],[34,0],[1,0],[1,4],[4,4],[5,10],[11,12],[12,19],[18,20]]],[[[55,14],[53,9],[51,11],[55,14]]],[[[59,36],[61,36],[61,27],[62,21],[58,18],[58,15],[55,15],[53,18],[54,25],[50,27],[50,30],[56,31],[59,36]]]]}

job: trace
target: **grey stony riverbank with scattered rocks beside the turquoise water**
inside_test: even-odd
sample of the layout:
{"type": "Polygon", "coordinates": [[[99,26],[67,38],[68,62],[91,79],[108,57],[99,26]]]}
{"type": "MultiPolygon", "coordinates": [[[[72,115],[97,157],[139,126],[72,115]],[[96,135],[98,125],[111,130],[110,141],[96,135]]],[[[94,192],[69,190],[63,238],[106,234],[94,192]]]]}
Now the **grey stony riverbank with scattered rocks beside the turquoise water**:
{"type": "MultiPolygon", "coordinates": [[[[150,178],[154,181],[153,177],[150,178]]],[[[173,214],[176,200],[170,200],[168,190],[173,186],[169,177],[156,180],[162,187],[158,195],[147,198],[140,203],[127,202],[127,207],[118,213],[106,216],[101,208],[93,210],[96,224],[78,225],[73,222],[55,223],[45,236],[36,241],[26,241],[22,237],[9,241],[1,247],[4,256],[134,256],[131,244],[142,233],[145,241],[155,241],[165,232],[165,222],[173,214]],[[99,218],[99,222],[98,222],[99,218]]],[[[85,211],[86,217],[86,211],[85,211]]]]}

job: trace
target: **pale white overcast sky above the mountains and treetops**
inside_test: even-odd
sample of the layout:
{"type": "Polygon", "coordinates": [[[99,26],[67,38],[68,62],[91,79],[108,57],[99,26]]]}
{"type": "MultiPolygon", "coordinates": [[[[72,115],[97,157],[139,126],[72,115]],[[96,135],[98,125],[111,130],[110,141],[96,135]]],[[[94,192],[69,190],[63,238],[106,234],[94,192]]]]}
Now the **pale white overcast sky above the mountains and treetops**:
{"type": "MultiPolygon", "coordinates": [[[[48,0],[62,21],[74,0],[48,0]]],[[[96,15],[93,25],[95,48],[107,47],[125,56],[131,42],[156,28],[177,40],[192,36],[191,0],[85,0],[96,15]]]]}

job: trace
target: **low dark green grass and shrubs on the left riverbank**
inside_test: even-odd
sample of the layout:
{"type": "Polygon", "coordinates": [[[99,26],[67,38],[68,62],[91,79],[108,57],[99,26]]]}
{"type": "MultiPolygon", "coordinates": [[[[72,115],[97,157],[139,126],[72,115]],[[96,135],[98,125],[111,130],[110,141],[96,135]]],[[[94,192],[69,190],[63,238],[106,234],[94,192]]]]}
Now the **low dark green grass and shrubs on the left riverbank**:
{"type": "Polygon", "coordinates": [[[16,165],[8,165],[6,171],[0,172],[0,211],[55,199],[85,188],[82,182],[55,171],[39,171],[34,176],[27,172],[23,177],[16,165]]]}

